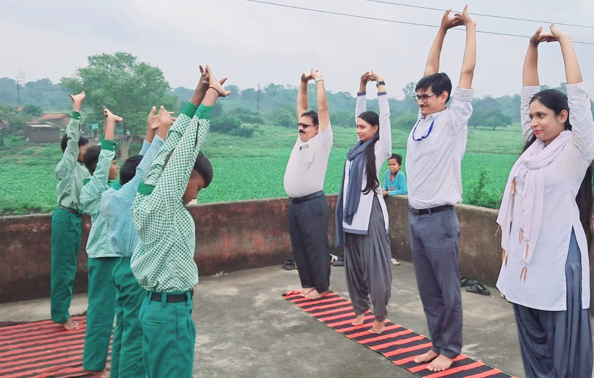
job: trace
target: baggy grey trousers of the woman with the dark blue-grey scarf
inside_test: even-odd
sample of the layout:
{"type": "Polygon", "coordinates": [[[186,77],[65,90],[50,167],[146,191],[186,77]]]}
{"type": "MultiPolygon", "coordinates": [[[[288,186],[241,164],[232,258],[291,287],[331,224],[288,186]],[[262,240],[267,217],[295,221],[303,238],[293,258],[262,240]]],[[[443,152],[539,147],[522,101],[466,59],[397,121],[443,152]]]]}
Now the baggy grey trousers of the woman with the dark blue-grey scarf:
{"type": "Polygon", "coordinates": [[[380,201],[374,197],[367,234],[345,233],[346,286],[356,315],[373,304],[375,320],[386,320],[392,293],[391,267],[390,238],[380,201]]]}

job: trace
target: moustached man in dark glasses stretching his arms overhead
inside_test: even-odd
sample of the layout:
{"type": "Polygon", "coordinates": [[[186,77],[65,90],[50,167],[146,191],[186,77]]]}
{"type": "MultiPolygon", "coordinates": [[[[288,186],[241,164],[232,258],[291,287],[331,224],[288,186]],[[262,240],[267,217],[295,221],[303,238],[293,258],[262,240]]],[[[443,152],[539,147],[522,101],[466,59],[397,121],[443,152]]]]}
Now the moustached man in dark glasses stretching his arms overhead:
{"type": "Polygon", "coordinates": [[[324,77],[313,68],[301,75],[297,94],[298,138],[285,171],[290,198],[289,233],[301,279],[301,295],[322,297],[330,287],[328,201],[324,179],[333,144],[324,77]],[[307,84],[315,81],[318,113],[307,110],[307,84]]]}

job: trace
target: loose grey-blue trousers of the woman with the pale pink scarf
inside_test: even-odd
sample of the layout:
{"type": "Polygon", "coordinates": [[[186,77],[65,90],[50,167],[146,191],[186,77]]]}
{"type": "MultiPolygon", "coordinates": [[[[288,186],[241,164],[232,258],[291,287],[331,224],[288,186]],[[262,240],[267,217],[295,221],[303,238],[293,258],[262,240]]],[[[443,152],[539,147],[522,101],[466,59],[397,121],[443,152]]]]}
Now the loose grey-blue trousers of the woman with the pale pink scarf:
{"type": "Polygon", "coordinates": [[[565,311],[536,310],[514,303],[526,378],[592,376],[592,329],[588,310],[582,309],[582,256],[573,230],[565,280],[565,311]]]}

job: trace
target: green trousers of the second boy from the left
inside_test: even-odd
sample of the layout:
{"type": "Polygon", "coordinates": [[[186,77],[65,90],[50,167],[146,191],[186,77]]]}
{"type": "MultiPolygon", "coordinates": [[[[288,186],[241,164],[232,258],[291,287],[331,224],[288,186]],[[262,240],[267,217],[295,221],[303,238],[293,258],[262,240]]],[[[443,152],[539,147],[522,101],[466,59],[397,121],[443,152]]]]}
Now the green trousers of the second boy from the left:
{"type": "Polygon", "coordinates": [[[100,371],[105,369],[109,341],[115,316],[115,287],[112,272],[118,258],[89,259],[89,305],[87,307],[87,332],[84,337],[83,368],[100,371]]]}

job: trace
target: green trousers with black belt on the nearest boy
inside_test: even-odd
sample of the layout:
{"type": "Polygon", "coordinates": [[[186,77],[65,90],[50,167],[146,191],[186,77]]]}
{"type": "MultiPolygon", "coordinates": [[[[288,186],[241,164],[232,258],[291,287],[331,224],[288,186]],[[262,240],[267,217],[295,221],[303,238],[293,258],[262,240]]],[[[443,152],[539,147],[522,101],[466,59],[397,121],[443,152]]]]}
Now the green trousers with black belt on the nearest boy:
{"type": "Polygon", "coordinates": [[[140,307],[147,378],[192,378],[196,329],[189,291],[181,303],[167,303],[167,293],[162,293],[161,301],[151,300],[152,293],[140,307]]]}

